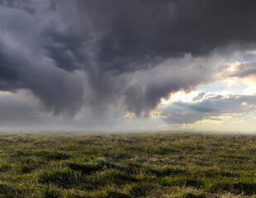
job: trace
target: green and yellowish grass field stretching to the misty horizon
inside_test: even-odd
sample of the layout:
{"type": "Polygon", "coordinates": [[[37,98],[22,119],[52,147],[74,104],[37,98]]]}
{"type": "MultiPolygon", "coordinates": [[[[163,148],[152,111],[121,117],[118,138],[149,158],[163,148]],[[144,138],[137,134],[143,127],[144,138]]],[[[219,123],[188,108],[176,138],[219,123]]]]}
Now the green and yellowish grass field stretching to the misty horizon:
{"type": "Polygon", "coordinates": [[[0,134],[0,197],[256,197],[256,136],[0,134]]]}

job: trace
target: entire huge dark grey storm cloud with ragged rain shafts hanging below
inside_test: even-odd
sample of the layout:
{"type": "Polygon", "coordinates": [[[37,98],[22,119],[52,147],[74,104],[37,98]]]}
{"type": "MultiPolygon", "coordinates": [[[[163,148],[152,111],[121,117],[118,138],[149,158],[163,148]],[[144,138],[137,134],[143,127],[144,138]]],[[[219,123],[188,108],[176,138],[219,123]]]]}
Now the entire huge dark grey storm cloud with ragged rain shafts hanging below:
{"type": "Polygon", "coordinates": [[[216,54],[254,49],[255,8],[250,0],[2,0],[0,89],[27,88],[55,114],[122,104],[147,115],[171,92],[210,82],[216,54]]]}

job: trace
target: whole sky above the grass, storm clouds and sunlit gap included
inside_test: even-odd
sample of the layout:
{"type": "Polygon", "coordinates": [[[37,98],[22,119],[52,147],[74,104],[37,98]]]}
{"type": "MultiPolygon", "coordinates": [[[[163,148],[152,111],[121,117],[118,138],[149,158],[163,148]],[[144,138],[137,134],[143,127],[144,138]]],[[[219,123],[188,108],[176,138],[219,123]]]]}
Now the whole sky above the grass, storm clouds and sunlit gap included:
{"type": "Polygon", "coordinates": [[[0,130],[255,133],[254,0],[0,0],[0,130]]]}

